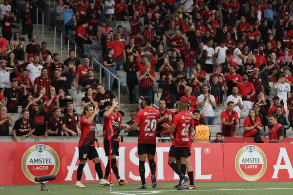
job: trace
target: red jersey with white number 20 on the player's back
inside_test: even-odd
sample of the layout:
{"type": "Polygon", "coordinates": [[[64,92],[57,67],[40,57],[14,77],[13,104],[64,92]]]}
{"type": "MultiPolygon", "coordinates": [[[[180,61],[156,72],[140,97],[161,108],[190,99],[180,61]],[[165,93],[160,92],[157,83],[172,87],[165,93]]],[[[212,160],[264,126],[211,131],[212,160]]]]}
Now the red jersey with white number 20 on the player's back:
{"type": "Polygon", "coordinates": [[[156,129],[160,112],[154,108],[145,108],[137,113],[134,122],[140,124],[138,143],[156,144],[156,129]]]}

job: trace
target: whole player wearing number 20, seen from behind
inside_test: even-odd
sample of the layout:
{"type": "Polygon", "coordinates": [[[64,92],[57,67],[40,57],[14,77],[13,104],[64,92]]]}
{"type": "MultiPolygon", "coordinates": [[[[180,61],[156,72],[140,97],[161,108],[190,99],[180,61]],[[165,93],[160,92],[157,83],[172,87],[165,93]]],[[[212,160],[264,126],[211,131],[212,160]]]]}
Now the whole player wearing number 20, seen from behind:
{"type": "Polygon", "coordinates": [[[146,189],[145,178],[145,162],[146,155],[149,162],[149,168],[151,171],[151,187],[157,187],[156,182],[156,129],[157,122],[160,116],[160,112],[151,106],[152,98],[146,96],[143,99],[144,109],[139,111],[136,115],[134,124],[128,129],[130,131],[136,130],[139,126],[140,135],[138,136],[137,153],[139,157],[139,175],[142,180],[142,184],[138,189],[146,189]]]}

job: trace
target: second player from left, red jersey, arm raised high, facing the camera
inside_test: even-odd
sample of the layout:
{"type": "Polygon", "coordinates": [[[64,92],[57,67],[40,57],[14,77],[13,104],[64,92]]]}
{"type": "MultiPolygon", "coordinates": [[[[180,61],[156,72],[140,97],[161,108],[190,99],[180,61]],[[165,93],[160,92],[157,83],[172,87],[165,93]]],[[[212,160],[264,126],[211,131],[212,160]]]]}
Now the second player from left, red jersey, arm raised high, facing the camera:
{"type": "Polygon", "coordinates": [[[118,180],[120,186],[123,186],[127,183],[126,180],[123,180],[119,176],[116,156],[119,156],[119,140],[118,136],[120,131],[125,130],[129,125],[122,124],[122,115],[118,112],[119,106],[117,99],[112,100],[112,106],[110,106],[108,111],[104,113],[104,149],[105,155],[108,157],[108,163],[105,169],[105,179],[108,178],[110,174],[110,159],[111,159],[111,169],[118,180]],[[112,125],[112,127],[110,127],[112,125]],[[113,136],[111,137],[111,157],[110,157],[110,141],[108,139],[110,128],[113,129],[113,136]]]}

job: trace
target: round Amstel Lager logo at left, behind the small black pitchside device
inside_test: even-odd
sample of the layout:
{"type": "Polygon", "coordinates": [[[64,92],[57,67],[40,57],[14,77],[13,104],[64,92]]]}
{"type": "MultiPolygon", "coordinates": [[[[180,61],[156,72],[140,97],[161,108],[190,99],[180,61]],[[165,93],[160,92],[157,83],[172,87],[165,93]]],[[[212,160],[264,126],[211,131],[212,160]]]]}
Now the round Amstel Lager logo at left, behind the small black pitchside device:
{"type": "Polygon", "coordinates": [[[30,147],[21,160],[22,171],[32,182],[36,176],[57,175],[59,164],[57,153],[47,145],[30,147]]]}

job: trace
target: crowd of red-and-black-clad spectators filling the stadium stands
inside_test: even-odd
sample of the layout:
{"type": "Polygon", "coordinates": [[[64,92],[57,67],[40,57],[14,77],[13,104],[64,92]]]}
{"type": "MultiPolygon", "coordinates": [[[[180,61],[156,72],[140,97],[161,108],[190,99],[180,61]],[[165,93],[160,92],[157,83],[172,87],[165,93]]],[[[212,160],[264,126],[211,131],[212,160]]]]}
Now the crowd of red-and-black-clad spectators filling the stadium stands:
{"type": "MultiPolygon", "coordinates": [[[[222,135],[226,137],[235,136],[241,110],[249,111],[243,136],[254,137],[256,142],[261,141],[259,131],[272,126],[271,116],[285,130],[293,126],[290,0],[59,0],[54,10],[56,24],[67,35],[76,30],[81,56],[84,44],[101,44],[107,70],[105,87],[94,77],[89,58],[81,61],[70,50],[69,58],[61,63],[59,54],[46,49],[46,42],[37,43],[29,3],[24,2],[24,10],[15,17],[8,2],[0,5],[2,136],[7,136],[12,126],[6,113],[18,113],[18,106],[23,109],[22,117],[31,119],[14,123],[15,138],[61,136],[61,132],[76,136],[80,124],[74,106],[92,104],[101,111],[108,109],[116,98],[114,78],[108,76],[117,71],[126,72],[129,103],[140,102],[140,107],[138,94],[154,100],[153,86],[162,89],[158,136],[166,130],[162,124],[172,121],[171,109],[181,100],[189,102],[194,120],[203,115],[207,125],[215,122],[214,110],[227,108],[221,113],[222,135]],[[22,32],[11,39],[7,29],[16,20],[21,20],[22,32]],[[129,32],[117,21],[129,22],[129,32]],[[21,34],[31,41],[26,47],[21,34]],[[72,85],[84,92],[80,105],[73,104],[72,85]],[[268,96],[272,90],[276,96],[271,103],[268,96]],[[289,121],[284,117],[288,112],[289,121]],[[51,121],[60,128],[50,126],[51,121]],[[28,126],[23,127],[24,123],[28,126]]],[[[130,116],[134,119],[135,112],[130,116]]],[[[103,115],[97,118],[104,123],[103,115]]]]}

